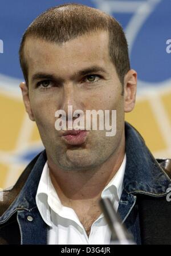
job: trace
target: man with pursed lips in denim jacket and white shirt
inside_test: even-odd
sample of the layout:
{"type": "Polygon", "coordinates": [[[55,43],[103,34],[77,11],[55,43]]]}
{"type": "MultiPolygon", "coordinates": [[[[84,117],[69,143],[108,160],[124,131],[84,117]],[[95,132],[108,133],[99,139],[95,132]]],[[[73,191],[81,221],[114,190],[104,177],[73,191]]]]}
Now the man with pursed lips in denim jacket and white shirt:
{"type": "Polygon", "coordinates": [[[45,151],[4,192],[1,243],[109,244],[101,197],[111,198],[136,243],[163,242],[169,220],[165,227],[162,212],[158,226],[156,220],[148,225],[148,212],[162,204],[169,216],[170,178],[124,122],[124,112],[135,106],[137,73],[119,23],[87,6],[57,6],[31,23],[19,54],[23,101],[45,151]],[[69,106],[80,113],[115,109],[115,136],[106,129],[55,129],[59,109],[67,113],[66,127],[76,120],[69,119],[69,106]]]}

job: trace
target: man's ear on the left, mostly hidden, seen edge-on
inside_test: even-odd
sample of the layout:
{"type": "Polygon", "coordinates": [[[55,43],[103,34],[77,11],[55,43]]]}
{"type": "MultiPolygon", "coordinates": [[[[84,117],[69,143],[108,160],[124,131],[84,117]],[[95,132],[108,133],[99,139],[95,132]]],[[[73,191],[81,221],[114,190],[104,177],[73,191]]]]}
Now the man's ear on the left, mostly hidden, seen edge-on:
{"type": "Polygon", "coordinates": [[[29,99],[29,94],[28,94],[28,86],[26,85],[25,82],[22,82],[19,87],[21,88],[22,91],[22,96],[23,96],[23,102],[25,104],[26,111],[28,113],[28,116],[30,117],[31,121],[35,121],[34,115],[32,113],[31,107],[30,107],[30,99],[29,99]]]}

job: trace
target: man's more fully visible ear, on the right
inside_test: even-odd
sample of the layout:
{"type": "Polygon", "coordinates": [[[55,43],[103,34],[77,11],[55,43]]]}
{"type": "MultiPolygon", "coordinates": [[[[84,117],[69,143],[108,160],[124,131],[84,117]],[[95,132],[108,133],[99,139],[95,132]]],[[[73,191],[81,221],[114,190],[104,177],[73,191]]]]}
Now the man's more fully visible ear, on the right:
{"type": "Polygon", "coordinates": [[[137,91],[137,72],[129,70],[124,78],[124,111],[131,112],[135,107],[137,91]]]}

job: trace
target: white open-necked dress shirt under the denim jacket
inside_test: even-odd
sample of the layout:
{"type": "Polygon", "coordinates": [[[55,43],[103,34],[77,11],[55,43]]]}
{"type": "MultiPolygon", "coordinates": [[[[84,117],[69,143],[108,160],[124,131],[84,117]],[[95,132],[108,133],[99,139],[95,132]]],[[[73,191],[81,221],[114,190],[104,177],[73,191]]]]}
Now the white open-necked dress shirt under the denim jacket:
{"type": "MultiPolygon", "coordinates": [[[[108,197],[112,200],[115,210],[119,206],[123,191],[125,165],[126,155],[119,170],[101,193],[101,198],[108,197]]],[[[49,226],[49,245],[109,245],[111,231],[104,219],[104,215],[101,214],[93,222],[88,237],[75,211],[61,204],[58,194],[52,185],[47,162],[40,177],[36,193],[36,205],[44,222],[49,226]]]]}

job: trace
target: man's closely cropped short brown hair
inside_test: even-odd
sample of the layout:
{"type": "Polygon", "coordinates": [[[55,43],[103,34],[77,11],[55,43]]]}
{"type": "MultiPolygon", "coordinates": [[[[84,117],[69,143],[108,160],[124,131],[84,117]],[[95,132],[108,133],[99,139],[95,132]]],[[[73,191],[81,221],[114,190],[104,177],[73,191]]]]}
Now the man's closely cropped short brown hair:
{"type": "Polygon", "coordinates": [[[109,34],[109,56],[115,65],[121,84],[124,84],[124,76],[130,70],[130,63],[127,39],[121,25],[103,11],[78,3],[52,7],[40,14],[28,26],[19,48],[19,58],[26,83],[28,83],[28,68],[23,48],[28,36],[61,44],[88,32],[101,30],[109,34]]]}

